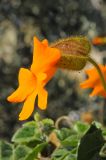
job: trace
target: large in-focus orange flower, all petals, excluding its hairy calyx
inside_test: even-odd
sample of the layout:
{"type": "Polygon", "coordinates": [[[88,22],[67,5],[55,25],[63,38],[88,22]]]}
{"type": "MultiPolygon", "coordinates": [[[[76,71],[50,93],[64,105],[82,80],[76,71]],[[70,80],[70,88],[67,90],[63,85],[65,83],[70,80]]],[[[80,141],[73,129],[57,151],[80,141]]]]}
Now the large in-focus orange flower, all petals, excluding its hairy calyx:
{"type": "Polygon", "coordinates": [[[48,92],[45,85],[56,72],[56,63],[60,59],[60,51],[50,48],[48,41],[40,42],[34,37],[33,61],[30,69],[19,71],[19,87],[7,99],[10,102],[23,102],[19,120],[27,119],[34,110],[35,99],[38,96],[38,107],[46,109],[48,92]]]}

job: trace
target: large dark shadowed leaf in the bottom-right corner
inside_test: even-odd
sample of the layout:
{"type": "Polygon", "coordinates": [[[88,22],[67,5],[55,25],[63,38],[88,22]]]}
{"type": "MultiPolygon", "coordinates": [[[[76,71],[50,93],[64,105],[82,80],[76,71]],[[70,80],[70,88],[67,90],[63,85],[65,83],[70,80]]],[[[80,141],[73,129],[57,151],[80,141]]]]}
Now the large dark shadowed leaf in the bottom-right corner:
{"type": "MultiPolygon", "coordinates": [[[[104,144],[102,132],[94,124],[82,137],[78,148],[78,160],[96,160],[104,144]]],[[[100,157],[99,157],[100,159],[100,157]]],[[[97,158],[97,160],[99,160],[97,158]]]]}

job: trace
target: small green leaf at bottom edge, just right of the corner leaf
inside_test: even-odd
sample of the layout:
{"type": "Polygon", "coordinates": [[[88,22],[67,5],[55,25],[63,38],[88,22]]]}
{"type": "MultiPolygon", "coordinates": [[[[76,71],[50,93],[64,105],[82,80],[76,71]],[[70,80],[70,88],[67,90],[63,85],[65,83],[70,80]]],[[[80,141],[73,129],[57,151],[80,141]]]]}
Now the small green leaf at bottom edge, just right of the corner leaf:
{"type": "Polygon", "coordinates": [[[14,160],[24,160],[31,149],[25,145],[18,145],[14,150],[14,160]]]}

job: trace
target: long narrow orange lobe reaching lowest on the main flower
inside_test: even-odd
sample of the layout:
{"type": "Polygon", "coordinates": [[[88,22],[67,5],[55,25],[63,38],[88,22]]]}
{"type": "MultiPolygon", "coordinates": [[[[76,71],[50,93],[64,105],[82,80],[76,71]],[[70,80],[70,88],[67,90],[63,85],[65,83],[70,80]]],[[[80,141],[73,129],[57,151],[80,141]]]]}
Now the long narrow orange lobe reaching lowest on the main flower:
{"type": "Polygon", "coordinates": [[[35,90],[24,102],[21,113],[19,114],[19,120],[26,120],[30,117],[34,110],[34,103],[37,96],[37,91],[35,90]]]}

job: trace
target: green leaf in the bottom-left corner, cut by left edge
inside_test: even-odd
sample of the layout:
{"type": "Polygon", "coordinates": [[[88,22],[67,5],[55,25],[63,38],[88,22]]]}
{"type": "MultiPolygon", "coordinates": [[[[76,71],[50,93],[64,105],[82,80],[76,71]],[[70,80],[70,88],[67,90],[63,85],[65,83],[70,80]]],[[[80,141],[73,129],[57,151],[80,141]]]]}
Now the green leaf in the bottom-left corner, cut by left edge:
{"type": "Polygon", "coordinates": [[[12,144],[0,141],[0,160],[13,160],[12,144]]]}

